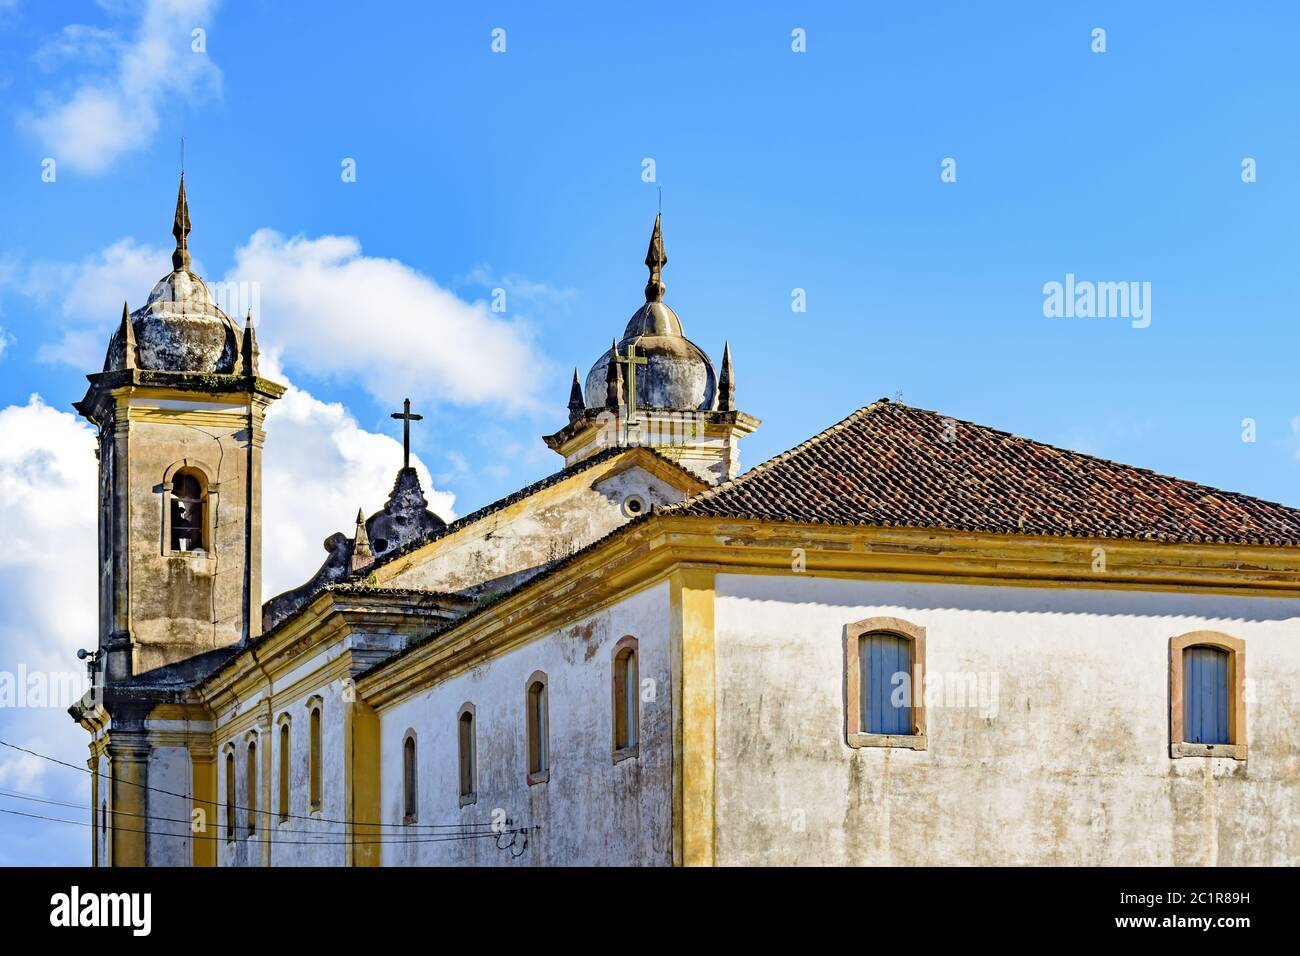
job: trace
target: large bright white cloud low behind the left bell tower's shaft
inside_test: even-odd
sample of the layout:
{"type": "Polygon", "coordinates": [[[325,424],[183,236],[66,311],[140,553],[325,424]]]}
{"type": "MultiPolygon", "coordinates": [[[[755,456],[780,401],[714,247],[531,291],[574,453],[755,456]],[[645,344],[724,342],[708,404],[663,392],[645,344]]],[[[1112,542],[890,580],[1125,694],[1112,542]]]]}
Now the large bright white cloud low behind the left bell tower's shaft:
{"type": "MultiPolygon", "coordinates": [[[[266,371],[280,376],[274,355],[266,371]]],[[[281,377],[281,381],[283,378],[281,377]]],[[[272,406],[263,462],[263,597],[308,580],[325,557],[324,538],[352,533],[356,509],[378,510],[402,460],[400,442],[367,432],[343,406],[290,385],[272,406]]],[[[32,395],[0,408],[0,671],[20,667],[83,672],[78,648],[98,630],[96,475],[94,432],[70,412],[32,395]]],[[[432,490],[430,507],[451,518],[452,496],[432,490]]],[[[0,737],[81,766],[86,735],[62,706],[5,709],[0,737]]],[[[0,784],[82,803],[75,770],[0,748],[0,784]]],[[[6,799],[4,806],[31,809],[6,799]]],[[[0,865],[86,862],[79,827],[30,826],[0,816],[0,865]]]]}

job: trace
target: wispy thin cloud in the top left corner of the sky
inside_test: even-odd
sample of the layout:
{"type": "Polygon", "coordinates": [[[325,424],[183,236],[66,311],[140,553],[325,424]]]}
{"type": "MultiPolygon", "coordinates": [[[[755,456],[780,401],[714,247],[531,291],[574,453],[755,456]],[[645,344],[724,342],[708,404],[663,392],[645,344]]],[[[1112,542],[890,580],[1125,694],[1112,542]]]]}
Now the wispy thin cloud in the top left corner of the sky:
{"type": "Polygon", "coordinates": [[[125,39],[83,25],[64,27],[38,52],[49,66],[75,60],[95,68],[62,95],[46,94],[20,117],[61,165],[101,173],[122,153],[152,143],[165,104],[221,88],[221,70],[194,52],[191,33],[207,27],[218,0],[148,0],[125,39]]]}

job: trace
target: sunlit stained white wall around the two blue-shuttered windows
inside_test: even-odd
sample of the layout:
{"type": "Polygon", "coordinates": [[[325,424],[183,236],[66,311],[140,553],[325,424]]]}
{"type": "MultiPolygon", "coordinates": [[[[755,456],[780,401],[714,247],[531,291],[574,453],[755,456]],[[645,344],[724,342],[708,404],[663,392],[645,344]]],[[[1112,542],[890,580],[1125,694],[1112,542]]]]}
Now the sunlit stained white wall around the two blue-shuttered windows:
{"type": "Polygon", "coordinates": [[[719,575],[716,627],[719,864],[1300,862],[1295,601],[719,575]],[[844,627],[878,615],[927,630],[931,678],[996,676],[996,713],[850,749],[844,627]],[[1169,756],[1196,630],[1247,643],[1248,761],[1169,756]]]}

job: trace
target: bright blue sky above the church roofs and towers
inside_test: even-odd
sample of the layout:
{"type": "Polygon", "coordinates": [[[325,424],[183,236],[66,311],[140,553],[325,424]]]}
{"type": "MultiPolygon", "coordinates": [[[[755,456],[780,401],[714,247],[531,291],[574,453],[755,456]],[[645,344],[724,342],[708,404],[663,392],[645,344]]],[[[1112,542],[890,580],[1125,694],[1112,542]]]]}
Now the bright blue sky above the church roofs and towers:
{"type": "Polygon", "coordinates": [[[399,453],[369,436],[400,434],[387,415],[408,392],[446,510],[559,467],[540,436],[641,302],[659,187],[667,300],[715,360],[731,341],[738,405],[763,419],[748,464],[902,393],[1300,505],[1297,27],[1268,3],[3,0],[0,410],[81,397],[94,369],[68,343],[101,356],[121,313],[103,267],[152,276],[124,293],[133,308],[168,269],[183,135],[195,258],[261,284],[263,342],[316,403],[295,454],[316,429],[332,454],[393,455],[358,466],[352,505],[302,518],[316,550],[298,579],[386,494],[399,453]],[[181,49],[151,87],[122,51],[150,30],[186,43],[191,22],[207,51],[181,49]],[[86,90],[117,113],[68,113],[86,90]],[[78,127],[96,116],[121,122],[78,127]],[[1045,317],[1043,286],[1066,273],[1149,282],[1150,325],[1045,317]],[[361,286],[341,315],[334,290],[361,286]],[[504,315],[484,306],[498,286],[504,315]]]}

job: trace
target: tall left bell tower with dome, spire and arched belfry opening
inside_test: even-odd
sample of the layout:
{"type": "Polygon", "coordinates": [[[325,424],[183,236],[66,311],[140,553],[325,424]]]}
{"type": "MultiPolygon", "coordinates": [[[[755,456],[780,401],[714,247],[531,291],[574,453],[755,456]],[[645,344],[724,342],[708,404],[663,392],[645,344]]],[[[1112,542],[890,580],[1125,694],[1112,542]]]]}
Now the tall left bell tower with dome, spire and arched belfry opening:
{"type": "Polygon", "coordinates": [[[99,429],[96,684],[261,631],[261,449],[283,386],[190,271],[185,177],[172,272],[124,304],[101,372],[75,405],[99,429]]]}

